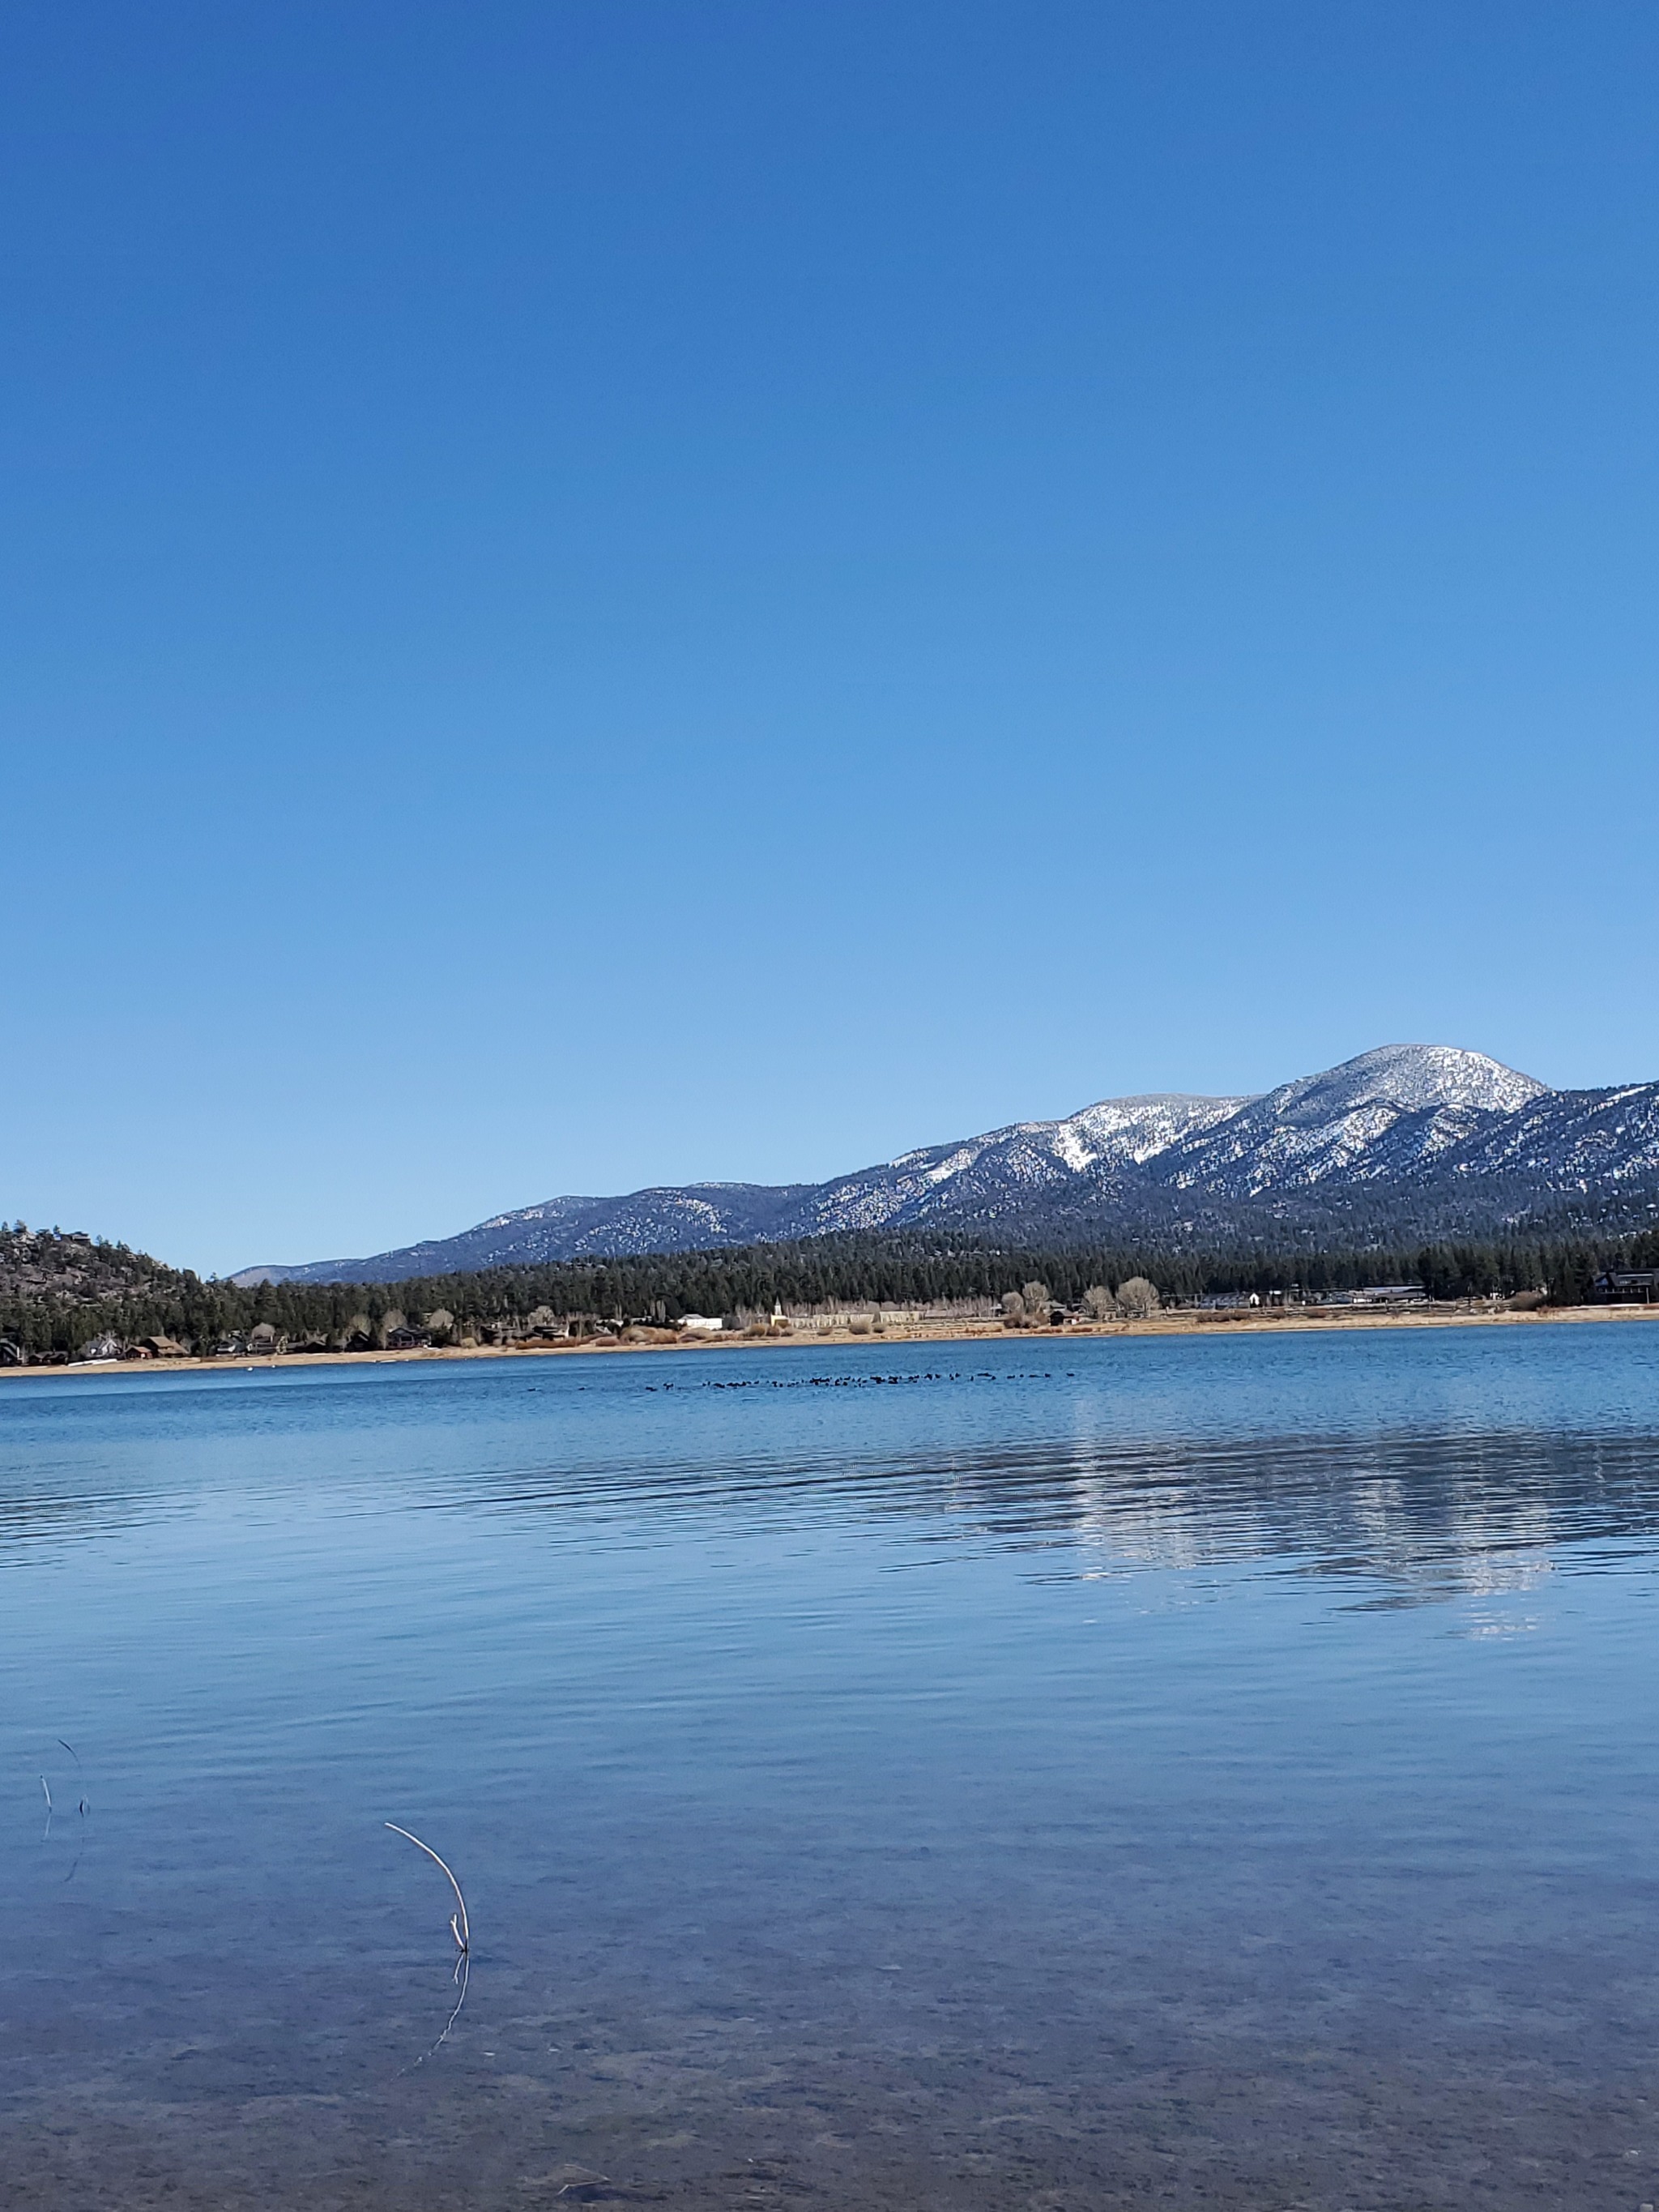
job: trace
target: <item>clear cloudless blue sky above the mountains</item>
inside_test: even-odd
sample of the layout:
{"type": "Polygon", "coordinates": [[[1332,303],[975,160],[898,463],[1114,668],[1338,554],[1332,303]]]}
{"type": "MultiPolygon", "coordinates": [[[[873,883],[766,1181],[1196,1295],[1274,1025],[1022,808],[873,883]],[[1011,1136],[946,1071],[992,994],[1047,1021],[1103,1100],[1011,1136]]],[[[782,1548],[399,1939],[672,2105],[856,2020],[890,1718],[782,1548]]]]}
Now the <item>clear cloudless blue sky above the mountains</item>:
{"type": "Polygon", "coordinates": [[[1659,11],[0,24],[0,1214],[1659,1075],[1659,11]]]}

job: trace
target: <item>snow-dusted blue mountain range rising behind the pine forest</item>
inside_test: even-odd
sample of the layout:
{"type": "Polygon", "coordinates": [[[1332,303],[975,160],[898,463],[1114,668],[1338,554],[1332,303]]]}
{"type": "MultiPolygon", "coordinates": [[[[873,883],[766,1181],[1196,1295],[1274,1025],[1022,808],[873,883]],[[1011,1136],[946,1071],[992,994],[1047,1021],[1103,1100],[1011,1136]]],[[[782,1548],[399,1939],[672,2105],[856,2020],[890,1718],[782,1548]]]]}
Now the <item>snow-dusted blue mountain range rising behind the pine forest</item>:
{"type": "Polygon", "coordinates": [[[1064,1121],[900,1152],[830,1183],[546,1199],[374,1259],[239,1283],[392,1283],[476,1267],[781,1243],[838,1230],[1020,1239],[1491,1230],[1526,1212],[1659,1210],[1659,1084],[1551,1091],[1449,1044],[1387,1044],[1261,1097],[1102,1099],[1064,1121]]]}

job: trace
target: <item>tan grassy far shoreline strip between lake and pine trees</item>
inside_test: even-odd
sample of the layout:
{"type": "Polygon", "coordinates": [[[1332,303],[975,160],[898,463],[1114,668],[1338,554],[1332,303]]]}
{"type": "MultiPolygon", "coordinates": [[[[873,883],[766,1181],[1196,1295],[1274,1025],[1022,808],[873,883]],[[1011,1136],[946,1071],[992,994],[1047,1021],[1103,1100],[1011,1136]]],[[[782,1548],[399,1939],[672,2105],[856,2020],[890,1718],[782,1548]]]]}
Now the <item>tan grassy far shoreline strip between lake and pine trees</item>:
{"type": "Polygon", "coordinates": [[[721,1336],[675,1336],[668,1343],[619,1343],[617,1338],[582,1338],[577,1343],[540,1345],[427,1345],[416,1352],[276,1352],[268,1358],[181,1358],[181,1360],[75,1360],[64,1365],[0,1367],[0,1383],[29,1376],[146,1376],[146,1374],[261,1374],[276,1367],[420,1367],[434,1360],[580,1360],[617,1358],[650,1352],[779,1352],[845,1347],[880,1352],[889,1345],[971,1345],[971,1343],[1084,1343],[1091,1338],[1157,1338],[1157,1336],[1314,1336],[1398,1329],[1493,1329],[1493,1327],[1571,1327],[1595,1323],[1659,1321],[1659,1305],[1562,1305],[1531,1314],[1482,1312],[1303,1312],[1298,1307],[1232,1310],[1221,1314],[1172,1312],[1146,1321],[1073,1323],[1057,1329],[1006,1329],[1000,1321],[916,1321],[880,1334],[854,1334],[847,1327],[794,1329],[787,1336],[745,1336],[739,1329],[721,1336]]]}

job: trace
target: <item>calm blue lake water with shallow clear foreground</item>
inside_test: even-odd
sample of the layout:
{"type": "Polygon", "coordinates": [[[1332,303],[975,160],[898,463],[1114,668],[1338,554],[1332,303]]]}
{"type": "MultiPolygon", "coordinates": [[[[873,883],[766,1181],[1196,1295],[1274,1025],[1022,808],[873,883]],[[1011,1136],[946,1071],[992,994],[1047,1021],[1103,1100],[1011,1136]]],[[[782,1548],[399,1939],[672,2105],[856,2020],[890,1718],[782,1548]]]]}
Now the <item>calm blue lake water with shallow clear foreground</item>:
{"type": "Polygon", "coordinates": [[[9,2208],[1659,2201],[1659,1327],[18,1378],[0,1635],[9,2208]]]}

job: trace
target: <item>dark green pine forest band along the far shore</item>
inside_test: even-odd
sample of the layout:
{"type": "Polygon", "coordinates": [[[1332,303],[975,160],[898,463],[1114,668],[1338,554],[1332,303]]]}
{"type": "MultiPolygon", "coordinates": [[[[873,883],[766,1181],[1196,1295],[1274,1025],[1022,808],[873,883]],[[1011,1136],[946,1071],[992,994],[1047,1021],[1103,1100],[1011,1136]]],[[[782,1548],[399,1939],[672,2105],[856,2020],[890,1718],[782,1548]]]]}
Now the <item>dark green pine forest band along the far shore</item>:
{"type": "Polygon", "coordinates": [[[0,1347],[7,1358],[73,1358],[88,1345],[157,1340],[210,1354],[270,1323],[294,1347],[372,1349],[409,1323],[434,1343],[593,1334],[684,1314],[770,1314],[774,1305],[858,1307],[995,1301],[1044,1283],[1064,1307],[1093,1285],[1144,1276],[1166,1305],[1223,1292],[1316,1301],[1367,1283],[1422,1283],[1433,1298],[1544,1290],[1555,1305],[1597,1296],[1608,1267],[1659,1265],[1659,1232],[1624,1239],[1535,1237],[1411,1250],[1214,1250],[1075,1243],[998,1245],[918,1234],[845,1234],[807,1243],[566,1261],[407,1283],[268,1283],[239,1290],[166,1267],[126,1245],[58,1230],[0,1228],[0,1347]]]}

